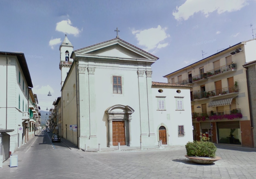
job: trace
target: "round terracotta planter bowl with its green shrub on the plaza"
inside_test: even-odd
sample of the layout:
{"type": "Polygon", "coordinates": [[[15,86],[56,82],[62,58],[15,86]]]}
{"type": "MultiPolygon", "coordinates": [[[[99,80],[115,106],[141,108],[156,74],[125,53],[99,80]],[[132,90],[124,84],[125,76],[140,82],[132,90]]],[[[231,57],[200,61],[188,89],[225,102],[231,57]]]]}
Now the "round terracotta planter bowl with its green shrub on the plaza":
{"type": "MultiPolygon", "coordinates": [[[[202,135],[202,133],[201,133],[202,135]]],[[[216,157],[216,146],[210,142],[210,138],[205,134],[200,136],[200,141],[188,142],[186,144],[187,157],[195,163],[210,164],[216,162],[220,157],[216,157]]]]}

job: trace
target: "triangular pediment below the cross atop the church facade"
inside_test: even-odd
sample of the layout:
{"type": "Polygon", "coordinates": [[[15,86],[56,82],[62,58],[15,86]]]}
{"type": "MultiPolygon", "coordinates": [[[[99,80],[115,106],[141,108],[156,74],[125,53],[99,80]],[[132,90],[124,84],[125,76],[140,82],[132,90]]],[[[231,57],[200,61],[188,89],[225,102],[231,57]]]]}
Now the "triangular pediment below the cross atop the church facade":
{"type": "Polygon", "coordinates": [[[141,59],[150,60],[152,62],[158,57],[145,52],[119,38],[106,42],[95,44],[89,47],[81,48],[73,52],[75,55],[90,57],[112,57],[119,59],[141,59]]]}

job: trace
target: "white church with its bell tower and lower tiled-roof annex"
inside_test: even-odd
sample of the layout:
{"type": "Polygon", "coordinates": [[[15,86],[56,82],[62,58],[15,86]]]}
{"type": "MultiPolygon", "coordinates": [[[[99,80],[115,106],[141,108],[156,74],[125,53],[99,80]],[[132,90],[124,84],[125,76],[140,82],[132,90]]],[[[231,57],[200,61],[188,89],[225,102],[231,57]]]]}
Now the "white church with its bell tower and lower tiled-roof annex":
{"type": "Polygon", "coordinates": [[[80,149],[193,141],[190,88],[152,82],[159,58],[120,39],[73,51],[60,45],[59,135],[80,149]]]}

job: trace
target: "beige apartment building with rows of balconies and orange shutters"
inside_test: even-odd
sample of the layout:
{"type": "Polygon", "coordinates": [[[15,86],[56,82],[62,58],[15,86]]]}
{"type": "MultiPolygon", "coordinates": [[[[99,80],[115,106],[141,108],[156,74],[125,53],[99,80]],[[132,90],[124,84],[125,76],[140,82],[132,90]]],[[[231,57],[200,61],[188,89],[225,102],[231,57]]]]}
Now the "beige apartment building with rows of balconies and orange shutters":
{"type": "Polygon", "coordinates": [[[255,39],[240,42],[164,77],[191,85],[193,140],[206,134],[218,144],[253,147],[246,69],[255,60],[255,39]]]}

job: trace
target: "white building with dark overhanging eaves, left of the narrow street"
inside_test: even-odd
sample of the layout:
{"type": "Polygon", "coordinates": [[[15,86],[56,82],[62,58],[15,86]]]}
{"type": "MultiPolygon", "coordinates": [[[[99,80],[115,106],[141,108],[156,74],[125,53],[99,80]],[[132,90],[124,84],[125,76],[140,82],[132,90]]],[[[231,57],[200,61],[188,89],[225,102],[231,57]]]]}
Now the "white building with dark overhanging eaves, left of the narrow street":
{"type": "Polygon", "coordinates": [[[37,114],[37,118],[32,122],[30,107],[31,100],[35,103],[35,97],[24,53],[0,52],[0,76],[0,155],[5,161],[28,140],[26,124],[40,125],[40,107],[37,112],[34,108],[32,113],[37,114]]]}

